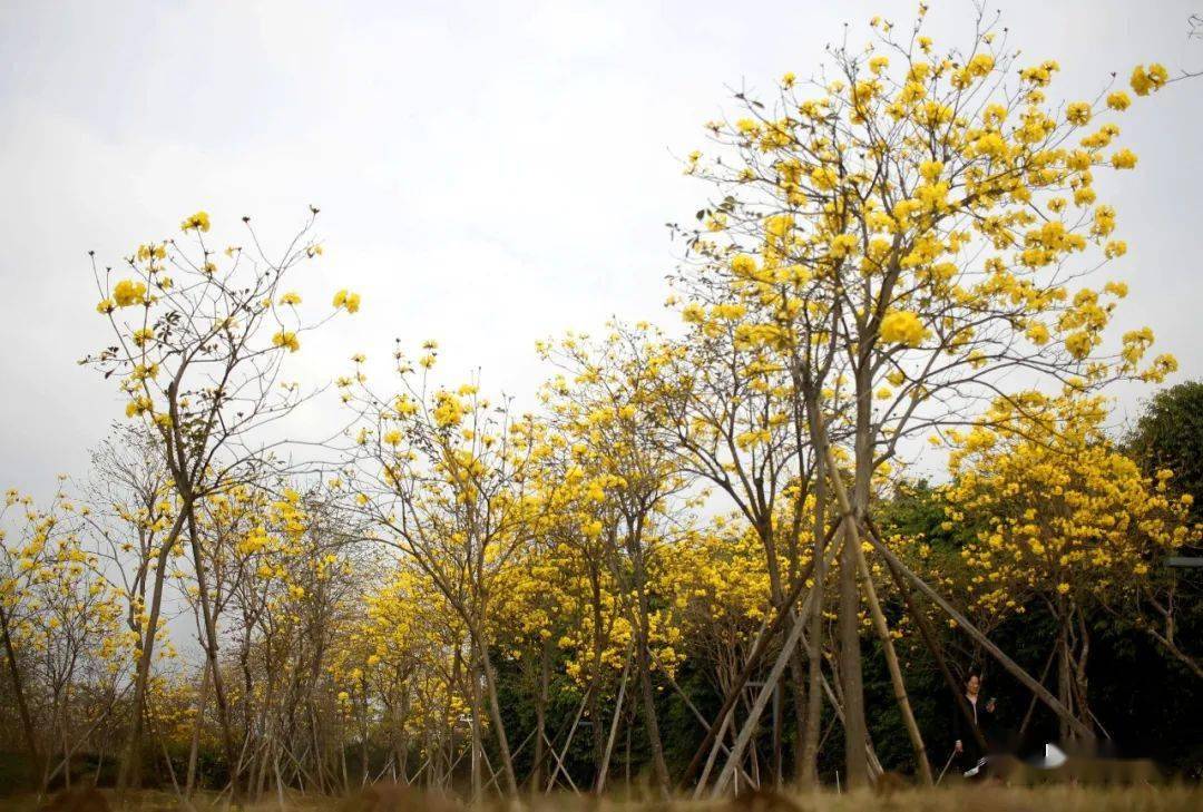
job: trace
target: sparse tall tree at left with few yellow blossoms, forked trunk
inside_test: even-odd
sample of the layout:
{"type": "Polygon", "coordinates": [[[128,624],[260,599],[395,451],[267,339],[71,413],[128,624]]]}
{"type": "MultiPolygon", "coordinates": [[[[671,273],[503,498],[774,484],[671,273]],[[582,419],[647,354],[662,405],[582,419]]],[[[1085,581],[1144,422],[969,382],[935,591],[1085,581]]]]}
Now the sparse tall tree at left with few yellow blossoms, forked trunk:
{"type": "MultiPolygon", "coordinates": [[[[229,703],[217,668],[219,634],[197,527],[198,504],[207,497],[257,476],[282,440],[261,435],[262,427],[295,410],[307,397],[284,378],[285,358],[301,348],[300,337],[339,310],[354,313],[360,297],[345,290],[333,312],[319,318],[302,310],[300,294],[285,285],[289,272],[321,254],[313,238],[318,209],[278,254],[268,254],[250,218],[243,218],[251,248],[229,247],[224,256],[209,245],[205,212],[186,218],[180,230],[188,247],[173,239],[140,245],[123,269],[97,266],[96,312],[108,322],[113,344],[81,363],[114,378],[126,399],[125,414],[146,423],[167,472],[178,510],[162,545],[188,540],[201,610],[203,647],[213,675],[218,719],[226,759],[237,764],[229,703]]],[[[154,629],[152,607],[147,628],[154,629]]],[[[138,660],[134,707],[142,707],[153,658],[153,635],[138,660]]],[[[137,758],[138,725],[130,727],[125,760],[137,758]]],[[[129,769],[123,769],[129,775],[129,769]]],[[[238,776],[235,776],[238,786],[238,776]]]]}

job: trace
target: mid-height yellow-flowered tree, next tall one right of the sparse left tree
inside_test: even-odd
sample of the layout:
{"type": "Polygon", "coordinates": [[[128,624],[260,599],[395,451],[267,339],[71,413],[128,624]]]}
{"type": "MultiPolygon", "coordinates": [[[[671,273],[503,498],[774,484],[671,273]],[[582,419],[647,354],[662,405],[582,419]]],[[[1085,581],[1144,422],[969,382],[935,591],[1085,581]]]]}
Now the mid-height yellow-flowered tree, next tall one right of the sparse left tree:
{"type": "Polygon", "coordinates": [[[371,538],[408,556],[464,623],[474,795],[484,790],[479,753],[486,715],[504,789],[515,795],[490,620],[499,573],[529,544],[544,514],[529,478],[540,427],[531,415],[511,415],[508,403],[492,403],[475,384],[435,386],[428,377],[435,352],[427,343],[415,364],[398,350],[398,390],[387,397],[374,393],[362,375],[357,384],[346,381],[346,401],[360,415],[352,485],[374,524],[371,538]]]}

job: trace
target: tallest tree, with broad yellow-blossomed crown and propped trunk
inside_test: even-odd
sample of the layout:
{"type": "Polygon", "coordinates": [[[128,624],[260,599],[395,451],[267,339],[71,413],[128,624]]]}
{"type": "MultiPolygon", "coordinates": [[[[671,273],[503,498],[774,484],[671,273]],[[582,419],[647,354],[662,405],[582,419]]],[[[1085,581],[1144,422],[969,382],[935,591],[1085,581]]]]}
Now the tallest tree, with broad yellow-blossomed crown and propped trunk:
{"type": "MultiPolygon", "coordinates": [[[[1113,120],[1128,94],[1050,97],[1057,63],[1020,63],[984,11],[952,47],[923,32],[925,11],[906,30],[875,18],[865,48],[830,47],[772,100],[740,94],[743,117],[710,125],[713,156],[687,165],[716,185],[704,215],[721,218],[685,233],[691,261],[741,295],[749,334],[788,360],[813,446],[851,452],[840,664],[853,786],[867,774],[854,618],[875,472],[905,438],[970,421],[1008,378],[1090,392],[1175,368],[1145,361],[1148,330],[1104,342],[1126,286],[1088,279],[1126,250],[1094,180],[1136,166],[1113,120]]],[[[1138,66],[1132,90],[1168,78],[1138,66]]]]}

